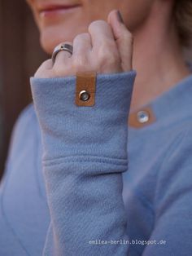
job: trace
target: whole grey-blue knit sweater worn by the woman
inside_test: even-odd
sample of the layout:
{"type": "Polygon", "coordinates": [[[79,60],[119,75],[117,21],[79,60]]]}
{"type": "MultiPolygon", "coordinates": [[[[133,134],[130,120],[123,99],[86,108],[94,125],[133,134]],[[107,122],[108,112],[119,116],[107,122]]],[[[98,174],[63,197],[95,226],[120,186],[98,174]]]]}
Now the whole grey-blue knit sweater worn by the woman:
{"type": "Polygon", "coordinates": [[[0,187],[1,256],[192,254],[192,75],[143,106],[155,121],[140,128],[135,76],[98,75],[92,107],[74,104],[75,77],[31,79],[0,187]]]}

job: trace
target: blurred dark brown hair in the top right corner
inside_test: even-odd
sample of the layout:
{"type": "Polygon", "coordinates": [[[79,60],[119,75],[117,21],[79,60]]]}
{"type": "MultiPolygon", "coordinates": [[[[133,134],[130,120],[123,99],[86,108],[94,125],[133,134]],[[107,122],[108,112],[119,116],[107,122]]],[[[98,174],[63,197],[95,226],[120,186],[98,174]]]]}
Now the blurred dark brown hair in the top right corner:
{"type": "Polygon", "coordinates": [[[192,0],[175,0],[174,15],[182,46],[192,42],[192,0]]]}

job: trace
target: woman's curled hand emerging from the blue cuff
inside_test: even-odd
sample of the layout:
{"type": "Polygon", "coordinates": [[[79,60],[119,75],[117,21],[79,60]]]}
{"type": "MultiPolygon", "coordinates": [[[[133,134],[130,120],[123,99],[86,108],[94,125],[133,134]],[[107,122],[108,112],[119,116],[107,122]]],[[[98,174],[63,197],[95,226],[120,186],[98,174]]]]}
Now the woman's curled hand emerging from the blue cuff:
{"type": "Polygon", "coordinates": [[[35,77],[67,77],[76,72],[120,73],[132,69],[133,36],[118,15],[111,11],[107,22],[96,20],[89,24],[88,33],[81,33],[69,43],[72,55],[60,51],[55,64],[46,60],[35,77]]]}

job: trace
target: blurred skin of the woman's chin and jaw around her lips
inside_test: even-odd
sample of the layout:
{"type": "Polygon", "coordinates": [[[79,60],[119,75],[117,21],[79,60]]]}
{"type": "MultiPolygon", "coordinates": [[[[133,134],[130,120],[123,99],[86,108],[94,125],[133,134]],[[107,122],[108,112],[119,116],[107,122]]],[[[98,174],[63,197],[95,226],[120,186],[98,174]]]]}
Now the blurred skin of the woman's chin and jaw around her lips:
{"type": "Polygon", "coordinates": [[[110,11],[118,9],[124,17],[124,23],[133,29],[145,20],[153,0],[28,0],[33,10],[37,26],[40,29],[41,45],[51,53],[60,42],[72,42],[79,33],[86,33],[94,20],[106,20],[110,11]],[[80,5],[76,11],[58,15],[55,19],[46,19],[39,15],[38,9],[45,3],[80,5]],[[137,14],[137,15],[135,15],[137,14]]]}

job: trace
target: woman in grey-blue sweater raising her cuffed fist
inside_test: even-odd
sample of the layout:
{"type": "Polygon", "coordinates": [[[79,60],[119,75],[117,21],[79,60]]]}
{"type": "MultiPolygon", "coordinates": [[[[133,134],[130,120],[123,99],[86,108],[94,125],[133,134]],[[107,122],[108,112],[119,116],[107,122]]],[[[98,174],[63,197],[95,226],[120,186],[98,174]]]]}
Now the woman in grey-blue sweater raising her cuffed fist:
{"type": "Polygon", "coordinates": [[[192,2],[28,3],[54,54],[11,140],[1,255],[190,255],[192,2]]]}

